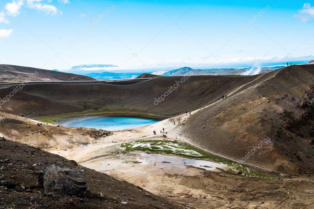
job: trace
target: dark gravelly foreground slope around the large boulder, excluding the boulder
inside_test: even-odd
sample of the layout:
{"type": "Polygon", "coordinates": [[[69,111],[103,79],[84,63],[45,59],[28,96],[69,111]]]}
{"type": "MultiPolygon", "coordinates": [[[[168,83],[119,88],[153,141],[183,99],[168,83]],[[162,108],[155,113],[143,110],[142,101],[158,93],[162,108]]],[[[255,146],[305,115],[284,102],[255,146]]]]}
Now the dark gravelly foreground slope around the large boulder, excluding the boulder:
{"type": "Polygon", "coordinates": [[[18,183],[14,189],[0,188],[2,208],[183,208],[126,181],[78,166],[75,161],[59,155],[4,138],[0,138],[0,147],[1,180],[5,178],[18,183]],[[60,161],[86,178],[90,192],[85,197],[44,195],[43,189],[36,188],[38,172],[60,161]],[[126,201],[126,205],[122,204],[126,201]]]}

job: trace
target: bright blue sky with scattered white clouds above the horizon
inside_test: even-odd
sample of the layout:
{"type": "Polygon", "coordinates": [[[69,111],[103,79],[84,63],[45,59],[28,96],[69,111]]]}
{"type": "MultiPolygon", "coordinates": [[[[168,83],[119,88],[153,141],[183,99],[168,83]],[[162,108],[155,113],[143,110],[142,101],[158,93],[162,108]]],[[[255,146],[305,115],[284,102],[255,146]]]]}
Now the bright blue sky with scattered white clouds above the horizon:
{"type": "Polygon", "coordinates": [[[314,59],[314,1],[3,0],[0,6],[2,64],[154,71],[314,59]]]}

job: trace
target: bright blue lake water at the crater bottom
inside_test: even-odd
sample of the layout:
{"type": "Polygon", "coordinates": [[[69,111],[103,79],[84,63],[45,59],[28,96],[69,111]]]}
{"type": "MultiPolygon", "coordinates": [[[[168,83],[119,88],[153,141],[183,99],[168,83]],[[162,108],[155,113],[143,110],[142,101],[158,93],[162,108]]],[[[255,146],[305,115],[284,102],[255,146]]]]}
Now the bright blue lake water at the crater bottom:
{"type": "Polygon", "coordinates": [[[149,118],[135,118],[126,116],[78,116],[56,121],[56,124],[68,127],[85,127],[103,130],[125,130],[138,128],[158,122],[149,118]]]}

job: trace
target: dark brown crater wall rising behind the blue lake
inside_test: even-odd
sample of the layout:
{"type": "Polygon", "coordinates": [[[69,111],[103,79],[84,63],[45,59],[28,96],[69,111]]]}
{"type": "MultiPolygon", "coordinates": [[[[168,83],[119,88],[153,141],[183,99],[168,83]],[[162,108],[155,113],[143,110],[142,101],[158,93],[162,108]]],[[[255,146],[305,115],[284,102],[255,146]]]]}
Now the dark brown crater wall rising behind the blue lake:
{"type": "MultiPolygon", "coordinates": [[[[0,111],[31,118],[84,110],[172,116],[209,105],[259,76],[191,76],[182,83],[183,77],[155,77],[132,85],[97,84],[97,88],[95,84],[27,84],[1,105],[0,111]],[[177,90],[169,90],[179,84],[177,90]],[[171,94],[155,105],[155,98],[163,97],[167,91],[171,94]]],[[[0,86],[0,98],[14,88],[15,85],[0,86]]]]}

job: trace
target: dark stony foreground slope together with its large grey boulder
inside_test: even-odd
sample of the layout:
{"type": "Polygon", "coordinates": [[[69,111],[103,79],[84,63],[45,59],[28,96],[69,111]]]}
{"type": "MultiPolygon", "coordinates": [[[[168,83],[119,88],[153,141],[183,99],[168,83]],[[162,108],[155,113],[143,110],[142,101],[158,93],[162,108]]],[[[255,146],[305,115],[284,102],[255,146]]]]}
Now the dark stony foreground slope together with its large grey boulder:
{"type": "Polygon", "coordinates": [[[0,138],[0,208],[183,208],[34,147],[0,138]]]}

